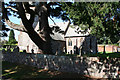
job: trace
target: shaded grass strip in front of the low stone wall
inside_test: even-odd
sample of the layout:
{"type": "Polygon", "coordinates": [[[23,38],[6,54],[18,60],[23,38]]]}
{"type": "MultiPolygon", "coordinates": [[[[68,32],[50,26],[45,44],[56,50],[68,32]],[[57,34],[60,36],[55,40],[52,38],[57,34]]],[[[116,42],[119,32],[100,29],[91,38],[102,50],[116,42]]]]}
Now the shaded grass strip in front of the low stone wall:
{"type": "Polygon", "coordinates": [[[68,73],[60,71],[50,71],[44,69],[38,69],[27,65],[21,65],[16,63],[2,62],[2,78],[3,79],[40,79],[40,78],[85,78],[77,73],[68,73]]]}

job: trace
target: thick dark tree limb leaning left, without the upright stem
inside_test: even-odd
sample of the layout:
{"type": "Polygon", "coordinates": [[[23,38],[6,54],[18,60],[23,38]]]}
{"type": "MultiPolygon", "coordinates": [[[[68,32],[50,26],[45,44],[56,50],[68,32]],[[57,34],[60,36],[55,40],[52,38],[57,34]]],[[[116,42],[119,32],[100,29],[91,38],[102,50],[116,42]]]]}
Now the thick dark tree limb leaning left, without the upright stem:
{"type": "Polygon", "coordinates": [[[39,49],[43,50],[43,44],[45,43],[39,34],[34,30],[33,24],[27,19],[25,14],[25,9],[23,8],[22,2],[17,2],[17,10],[18,14],[21,17],[22,23],[27,30],[27,33],[31,40],[39,47],[39,49]]]}

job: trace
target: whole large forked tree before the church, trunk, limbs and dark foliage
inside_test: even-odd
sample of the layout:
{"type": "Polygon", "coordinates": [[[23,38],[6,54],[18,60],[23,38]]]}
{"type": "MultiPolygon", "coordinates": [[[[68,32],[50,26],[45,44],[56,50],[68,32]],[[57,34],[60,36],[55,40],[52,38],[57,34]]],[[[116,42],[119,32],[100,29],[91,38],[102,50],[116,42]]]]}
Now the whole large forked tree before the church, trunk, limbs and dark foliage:
{"type": "Polygon", "coordinates": [[[35,2],[30,4],[29,2],[10,2],[10,4],[2,4],[3,19],[5,22],[13,29],[26,32],[31,40],[39,47],[42,53],[52,54],[51,51],[51,37],[52,29],[49,27],[48,17],[58,17],[63,20],[68,20],[67,15],[62,11],[61,4],[57,2],[35,2]],[[5,7],[5,5],[7,7],[5,7]],[[54,7],[58,6],[58,7],[54,7]],[[35,7],[32,10],[30,7],[35,7]],[[16,17],[20,18],[22,25],[17,25],[9,20],[8,14],[10,15],[11,9],[16,17]],[[30,19],[26,17],[26,14],[30,15],[30,19]],[[36,32],[34,30],[33,24],[34,19],[39,17],[39,30],[36,32]]]}

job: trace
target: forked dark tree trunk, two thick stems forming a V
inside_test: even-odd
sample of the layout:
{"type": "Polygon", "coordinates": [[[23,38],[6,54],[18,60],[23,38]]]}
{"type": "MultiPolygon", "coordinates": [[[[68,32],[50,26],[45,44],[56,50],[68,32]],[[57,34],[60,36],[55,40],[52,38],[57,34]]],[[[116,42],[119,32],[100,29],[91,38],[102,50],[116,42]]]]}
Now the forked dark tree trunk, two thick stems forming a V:
{"type": "MultiPolygon", "coordinates": [[[[28,20],[25,14],[22,3],[17,3],[17,10],[21,17],[22,23],[27,30],[27,34],[31,40],[39,47],[41,53],[43,54],[52,54],[51,50],[51,38],[50,38],[50,27],[48,25],[48,14],[47,14],[47,3],[38,4],[36,7],[37,15],[39,16],[39,33],[37,33],[33,28],[33,22],[31,18],[28,20]]],[[[26,7],[26,6],[25,6],[26,7]]],[[[26,10],[29,9],[26,7],[26,10]]]]}

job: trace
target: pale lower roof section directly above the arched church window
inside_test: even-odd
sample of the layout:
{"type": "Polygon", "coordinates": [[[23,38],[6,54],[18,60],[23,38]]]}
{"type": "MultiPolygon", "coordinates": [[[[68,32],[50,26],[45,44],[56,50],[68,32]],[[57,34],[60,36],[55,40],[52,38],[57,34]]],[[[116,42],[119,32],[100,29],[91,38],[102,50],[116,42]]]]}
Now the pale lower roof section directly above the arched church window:
{"type": "MultiPolygon", "coordinates": [[[[80,36],[88,36],[90,30],[87,30],[87,32],[78,32],[77,31],[78,26],[74,26],[73,28],[69,27],[67,33],[65,34],[65,37],[80,37],[80,36]]],[[[79,28],[79,30],[81,30],[79,28]]],[[[81,30],[82,31],[82,30],[81,30]]]]}

